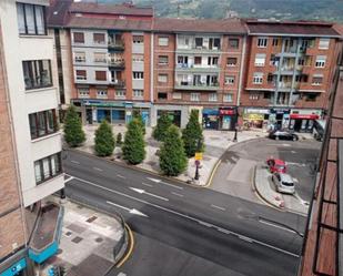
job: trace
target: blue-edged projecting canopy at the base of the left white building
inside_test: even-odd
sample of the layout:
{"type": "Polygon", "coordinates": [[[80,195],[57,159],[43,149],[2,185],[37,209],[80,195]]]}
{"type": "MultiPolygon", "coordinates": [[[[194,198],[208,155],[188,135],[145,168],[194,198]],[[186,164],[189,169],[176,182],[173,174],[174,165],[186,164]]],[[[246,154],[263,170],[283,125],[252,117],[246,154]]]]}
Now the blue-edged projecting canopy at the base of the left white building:
{"type": "Polygon", "coordinates": [[[29,257],[41,264],[53,256],[59,248],[64,208],[49,203],[38,215],[29,243],[29,257]]]}

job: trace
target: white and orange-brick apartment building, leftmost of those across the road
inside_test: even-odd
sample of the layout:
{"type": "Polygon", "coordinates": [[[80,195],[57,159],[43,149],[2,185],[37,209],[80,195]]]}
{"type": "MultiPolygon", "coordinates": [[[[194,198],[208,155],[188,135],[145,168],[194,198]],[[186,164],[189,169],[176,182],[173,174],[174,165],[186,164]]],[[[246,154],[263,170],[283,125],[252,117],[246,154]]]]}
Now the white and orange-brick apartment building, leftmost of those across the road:
{"type": "Polygon", "coordinates": [[[80,108],[84,123],[127,123],[140,114],[150,124],[152,14],[131,4],[71,1],[49,10],[57,51],[59,40],[70,49],[60,51],[64,98],[80,108]]]}

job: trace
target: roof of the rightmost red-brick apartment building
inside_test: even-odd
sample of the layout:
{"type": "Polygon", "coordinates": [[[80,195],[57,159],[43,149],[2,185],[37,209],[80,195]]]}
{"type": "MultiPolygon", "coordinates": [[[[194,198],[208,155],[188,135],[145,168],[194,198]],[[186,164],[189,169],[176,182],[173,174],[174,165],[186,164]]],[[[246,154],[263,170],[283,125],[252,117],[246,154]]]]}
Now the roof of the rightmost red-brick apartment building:
{"type": "Polygon", "coordinates": [[[315,21],[261,21],[246,20],[249,34],[340,37],[332,23],[315,21]]]}

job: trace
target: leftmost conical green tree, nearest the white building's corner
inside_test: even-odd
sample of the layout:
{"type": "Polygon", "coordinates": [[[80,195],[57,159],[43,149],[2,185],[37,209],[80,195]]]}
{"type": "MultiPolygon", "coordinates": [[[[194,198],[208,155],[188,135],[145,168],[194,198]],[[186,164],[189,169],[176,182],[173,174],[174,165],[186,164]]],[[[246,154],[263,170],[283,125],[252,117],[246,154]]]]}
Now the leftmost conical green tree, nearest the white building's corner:
{"type": "Polygon", "coordinates": [[[70,105],[67,110],[63,131],[65,142],[72,147],[79,146],[85,141],[82,122],[74,105],[70,105]]]}

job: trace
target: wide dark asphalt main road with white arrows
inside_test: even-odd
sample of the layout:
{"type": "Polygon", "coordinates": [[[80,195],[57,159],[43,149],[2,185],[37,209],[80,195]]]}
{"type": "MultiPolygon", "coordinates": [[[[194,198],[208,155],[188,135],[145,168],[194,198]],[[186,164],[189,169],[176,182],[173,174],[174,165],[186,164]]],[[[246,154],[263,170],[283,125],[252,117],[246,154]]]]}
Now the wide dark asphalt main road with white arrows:
{"type": "Polygon", "coordinates": [[[133,255],[110,275],[295,275],[305,218],[68,152],[67,195],[120,212],[133,255]]]}

